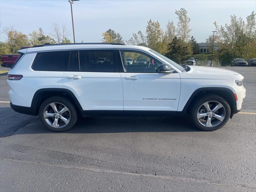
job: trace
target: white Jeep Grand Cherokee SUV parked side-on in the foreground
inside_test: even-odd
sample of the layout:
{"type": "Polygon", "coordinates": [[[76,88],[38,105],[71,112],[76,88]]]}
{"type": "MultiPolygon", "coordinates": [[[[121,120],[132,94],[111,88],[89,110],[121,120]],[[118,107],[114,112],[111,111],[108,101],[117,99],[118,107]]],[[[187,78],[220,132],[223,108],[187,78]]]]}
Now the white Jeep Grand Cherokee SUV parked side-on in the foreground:
{"type": "MultiPolygon", "coordinates": [[[[224,126],[241,110],[244,77],[236,72],[180,66],[143,46],[40,45],[19,51],[8,73],[11,107],[39,115],[53,131],[81,116],[189,114],[201,130],[224,126]],[[106,58],[97,62],[99,58],[106,58]],[[143,60],[127,64],[126,58],[143,60]]],[[[171,125],[170,125],[171,126],[171,125]]]]}

